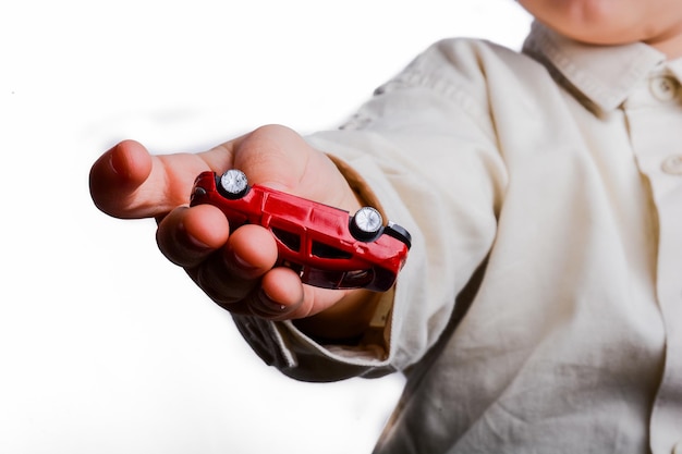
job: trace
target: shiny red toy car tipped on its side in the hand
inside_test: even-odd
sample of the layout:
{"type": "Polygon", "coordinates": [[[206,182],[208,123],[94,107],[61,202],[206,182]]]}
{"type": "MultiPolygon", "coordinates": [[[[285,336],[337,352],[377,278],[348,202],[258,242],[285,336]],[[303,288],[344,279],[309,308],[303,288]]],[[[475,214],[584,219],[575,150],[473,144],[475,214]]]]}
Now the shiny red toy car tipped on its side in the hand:
{"type": "Polygon", "coordinates": [[[277,240],[278,262],[309,285],[386,292],[405,263],[410,233],[363,207],[355,216],[265,186],[249,186],[243,172],[196,177],[191,205],[210,204],[224,212],[232,229],[263,225],[277,240]]]}

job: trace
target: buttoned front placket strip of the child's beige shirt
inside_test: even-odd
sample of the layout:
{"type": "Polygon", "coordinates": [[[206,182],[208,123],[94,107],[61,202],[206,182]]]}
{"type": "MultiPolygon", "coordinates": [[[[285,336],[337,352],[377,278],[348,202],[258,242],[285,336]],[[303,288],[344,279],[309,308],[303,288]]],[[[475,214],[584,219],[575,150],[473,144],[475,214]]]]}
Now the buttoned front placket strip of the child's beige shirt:
{"type": "Polygon", "coordinates": [[[637,164],[658,213],[656,290],[666,327],[666,361],[651,419],[654,454],[682,454],[682,89],[666,71],[624,103],[637,164]]]}

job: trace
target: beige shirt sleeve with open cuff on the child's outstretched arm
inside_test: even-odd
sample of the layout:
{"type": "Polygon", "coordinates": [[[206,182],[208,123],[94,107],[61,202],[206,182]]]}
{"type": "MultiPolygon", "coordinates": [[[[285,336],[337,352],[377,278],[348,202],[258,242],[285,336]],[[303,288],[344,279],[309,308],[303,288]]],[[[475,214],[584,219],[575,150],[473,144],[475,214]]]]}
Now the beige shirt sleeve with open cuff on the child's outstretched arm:
{"type": "Polygon", "coordinates": [[[414,365],[447,328],[492,245],[507,182],[482,47],[433,46],[340,130],[307,137],[343,163],[361,197],[376,197],[388,219],[410,231],[412,248],[395,287],[380,296],[379,341],[321,345],[291,322],[235,316],[266,363],[308,381],[381,376],[414,365]]]}

